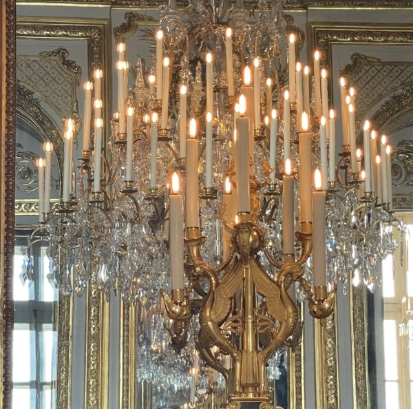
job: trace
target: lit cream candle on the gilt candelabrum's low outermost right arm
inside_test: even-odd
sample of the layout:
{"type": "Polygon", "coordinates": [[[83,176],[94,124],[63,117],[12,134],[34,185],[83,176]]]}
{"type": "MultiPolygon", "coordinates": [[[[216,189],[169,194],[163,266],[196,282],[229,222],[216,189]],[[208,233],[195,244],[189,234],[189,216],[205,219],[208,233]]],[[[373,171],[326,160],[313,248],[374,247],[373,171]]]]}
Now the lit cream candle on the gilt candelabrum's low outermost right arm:
{"type": "Polygon", "coordinates": [[[321,174],[315,169],[313,192],[313,269],[314,286],[325,286],[326,280],[326,192],[321,190],[321,174]]]}

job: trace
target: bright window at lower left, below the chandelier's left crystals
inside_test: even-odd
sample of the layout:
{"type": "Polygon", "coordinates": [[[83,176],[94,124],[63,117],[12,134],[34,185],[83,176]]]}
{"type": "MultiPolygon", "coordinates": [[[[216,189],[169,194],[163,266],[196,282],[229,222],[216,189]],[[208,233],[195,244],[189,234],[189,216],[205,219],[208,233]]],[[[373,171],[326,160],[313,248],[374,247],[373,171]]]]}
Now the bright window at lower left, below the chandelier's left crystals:
{"type": "Polygon", "coordinates": [[[32,282],[23,280],[21,247],[14,247],[13,409],[54,409],[57,332],[54,310],[58,292],[47,279],[49,260],[45,242],[32,247],[32,282]]]}

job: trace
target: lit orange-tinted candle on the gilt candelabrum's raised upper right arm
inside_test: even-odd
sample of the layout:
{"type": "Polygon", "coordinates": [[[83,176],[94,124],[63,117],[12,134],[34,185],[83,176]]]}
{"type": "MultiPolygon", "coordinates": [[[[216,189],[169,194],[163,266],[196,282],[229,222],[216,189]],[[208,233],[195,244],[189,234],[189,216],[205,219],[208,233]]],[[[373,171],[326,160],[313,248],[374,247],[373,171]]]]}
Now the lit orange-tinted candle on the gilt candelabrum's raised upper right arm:
{"type": "Polygon", "coordinates": [[[311,145],[313,134],[308,132],[308,114],[301,115],[301,132],[298,135],[299,154],[299,221],[311,222],[313,220],[313,209],[311,200],[311,145]]]}

